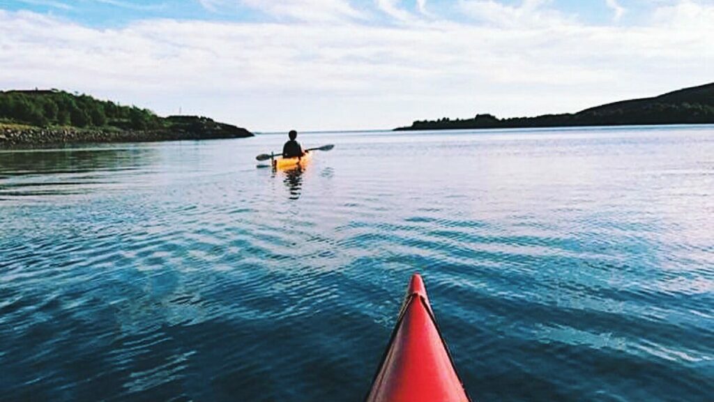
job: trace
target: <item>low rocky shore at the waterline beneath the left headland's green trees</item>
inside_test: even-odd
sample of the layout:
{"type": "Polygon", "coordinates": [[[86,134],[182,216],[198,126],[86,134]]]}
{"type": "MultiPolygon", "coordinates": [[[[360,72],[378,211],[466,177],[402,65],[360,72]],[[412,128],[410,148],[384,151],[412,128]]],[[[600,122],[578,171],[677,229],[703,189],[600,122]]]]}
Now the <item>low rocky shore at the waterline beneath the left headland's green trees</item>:
{"type": "Polygon", "coordinates": [[[213,122],[210,127],[172,127],[170,129],[122,130],[109,127],[31,127],[0,124],[0,147],[17,145],[67,144],[81,142],[153,142],[193,139],[252,137],[246,129],[213,122]]]}

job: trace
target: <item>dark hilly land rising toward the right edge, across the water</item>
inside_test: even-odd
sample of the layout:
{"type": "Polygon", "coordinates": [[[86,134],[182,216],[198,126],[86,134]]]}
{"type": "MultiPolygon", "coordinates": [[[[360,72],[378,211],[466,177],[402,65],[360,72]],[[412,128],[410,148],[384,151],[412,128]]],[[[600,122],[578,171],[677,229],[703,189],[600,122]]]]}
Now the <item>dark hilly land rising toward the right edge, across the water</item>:
{"type": "Polygon", "coordinates": [[[638,124],[714,124],[714,83],[680,89],[658,97],[632,99],[578,113],[545,114],[538,117],[499,119],[477,114],[473,119],[416,121],[410,127],[422,129],[493,129],[526,127],[619,126],[638,124]]]}

